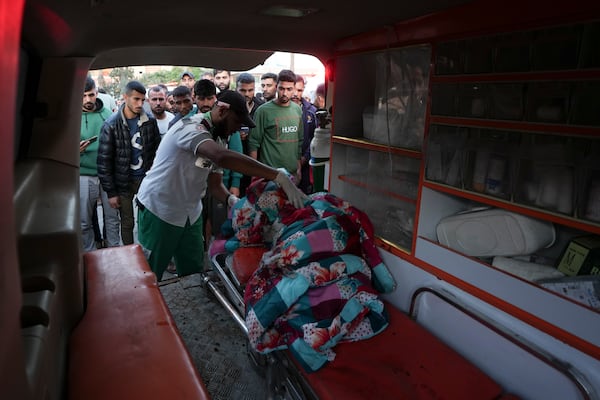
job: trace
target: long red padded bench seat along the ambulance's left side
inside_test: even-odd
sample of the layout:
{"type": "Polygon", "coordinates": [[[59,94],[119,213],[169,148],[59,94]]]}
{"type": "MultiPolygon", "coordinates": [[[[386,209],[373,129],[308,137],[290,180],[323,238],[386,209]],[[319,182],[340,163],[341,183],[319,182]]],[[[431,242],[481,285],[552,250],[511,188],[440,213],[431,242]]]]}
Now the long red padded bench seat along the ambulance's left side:
{"type": "Polygon", "coordinates": [[[209,399],[141,247],[83,261],[87,308],[69,343],[69,398],[209,399]]]}

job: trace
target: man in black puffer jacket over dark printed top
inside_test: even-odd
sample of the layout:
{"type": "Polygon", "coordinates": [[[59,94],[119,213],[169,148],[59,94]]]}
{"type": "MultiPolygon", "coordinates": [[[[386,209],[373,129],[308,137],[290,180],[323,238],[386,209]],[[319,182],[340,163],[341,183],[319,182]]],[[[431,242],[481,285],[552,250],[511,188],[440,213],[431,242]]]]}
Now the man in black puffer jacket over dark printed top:
{"type": "Polygon", "coordinates": [[[112,208],[119,209],[123,244],[133,243],[133,197],[150,169],[160,143],[156,119],[143,110],[146,88],[125,86],[124,103],[100,133],[98,177],[112,208]]]}

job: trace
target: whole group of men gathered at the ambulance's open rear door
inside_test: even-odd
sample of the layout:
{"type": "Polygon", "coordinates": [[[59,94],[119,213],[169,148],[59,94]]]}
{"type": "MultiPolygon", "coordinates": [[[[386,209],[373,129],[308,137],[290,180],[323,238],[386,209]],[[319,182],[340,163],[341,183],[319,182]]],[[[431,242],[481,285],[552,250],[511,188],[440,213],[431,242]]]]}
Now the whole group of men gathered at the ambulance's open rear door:
{"type": "Polygon", "coordinates": [[[266,73],[260,85],[257,96],[249,73],[237,75],[232,90],[229,71],[199,80],[185,71],[172,91],[128,82],[117,108],[88,77],[79,144],[83,250],[134,243],[137,208],[137,242],[158,279],[169,266],[189,275],[203,270],[205,245],[252,179],[274,180],[302,207],[324,104],[306,99],[304,79],[290,70],[266,73]]]}

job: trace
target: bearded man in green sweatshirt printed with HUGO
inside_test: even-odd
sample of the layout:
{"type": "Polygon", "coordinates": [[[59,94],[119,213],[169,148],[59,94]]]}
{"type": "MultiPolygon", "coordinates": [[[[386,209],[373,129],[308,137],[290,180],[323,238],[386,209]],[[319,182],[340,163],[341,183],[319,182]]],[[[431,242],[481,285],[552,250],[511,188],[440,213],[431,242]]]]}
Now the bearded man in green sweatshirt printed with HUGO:
{"type": "Polygon", "coordinates": [[[287,69],[277,76],[277,98],[256,110],[256,127],[250,131],[250,157],[273,168],[285,168],[300,183],[304,126],[302,108],[292,101],[296,75],[287,69]],[[260,156],[259,156],[260,150],[260,156]]]}

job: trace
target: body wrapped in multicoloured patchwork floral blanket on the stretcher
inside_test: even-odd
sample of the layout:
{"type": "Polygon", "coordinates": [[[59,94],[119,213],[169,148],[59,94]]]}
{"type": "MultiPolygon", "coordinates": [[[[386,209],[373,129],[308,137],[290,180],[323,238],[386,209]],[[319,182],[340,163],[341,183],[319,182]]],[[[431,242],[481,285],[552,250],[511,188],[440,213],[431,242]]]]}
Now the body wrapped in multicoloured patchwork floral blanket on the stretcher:
{"type": "Polygon", "coordinates": [[[268,251],[244,293],[246,326],[259,352],[288,348],[307,371],[335,357],[341,341],[387,327],[378,293],[395,288],[373,243],[368,217],[348,202],[316,193],[294,208],[273,182],[256,181],[232,210],[225,249],[268,251]]]}

